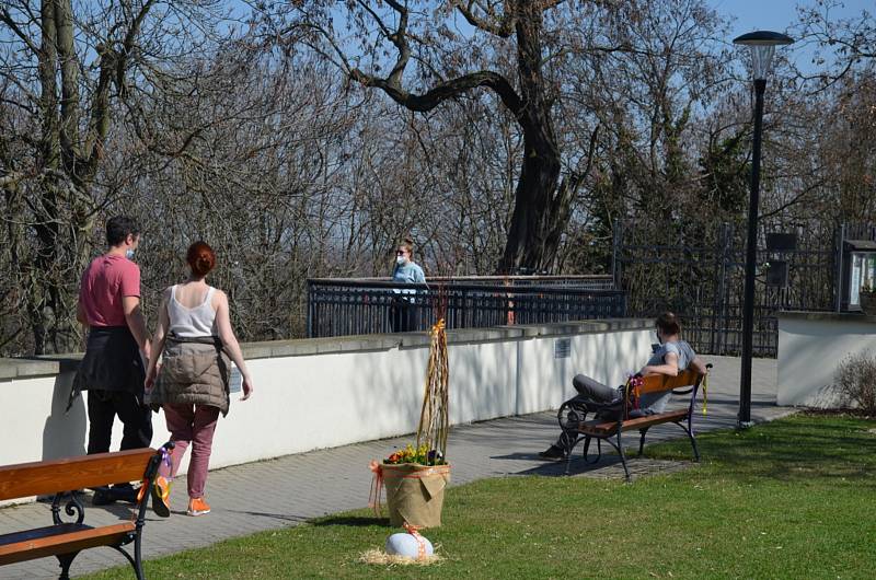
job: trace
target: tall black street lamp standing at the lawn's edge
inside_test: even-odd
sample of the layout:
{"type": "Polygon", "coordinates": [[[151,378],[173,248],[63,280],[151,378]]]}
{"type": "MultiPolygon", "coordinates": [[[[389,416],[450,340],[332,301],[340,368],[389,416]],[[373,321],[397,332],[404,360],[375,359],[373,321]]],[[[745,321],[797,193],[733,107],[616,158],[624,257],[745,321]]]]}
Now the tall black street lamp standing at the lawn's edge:
{"type": "Polygon", "coordinates": [[[744,34],[733,44],[751,48],[754,73],[754,142],[751,149],[751,199],[748,206],[748,243],[746,245],[746,288],[742,303],[742,372],[739,385],[739,414],[736,425],[751,427],[751,356],[754,341],[754,266],[758,259],[758,205],[760,202],[760,142],[763,130],[763,92],[766,73],[775,47],[794,40],[777,32],[758,31],[744,34]]]}

